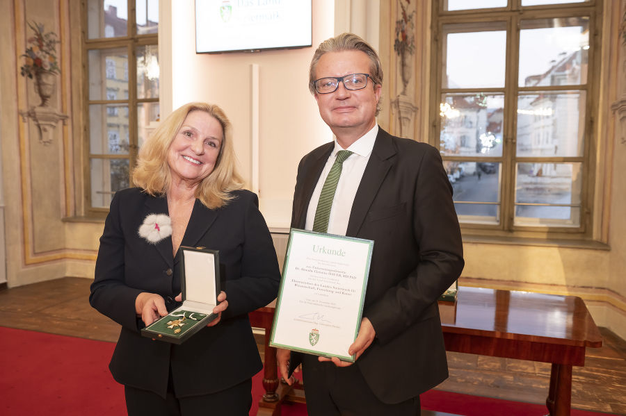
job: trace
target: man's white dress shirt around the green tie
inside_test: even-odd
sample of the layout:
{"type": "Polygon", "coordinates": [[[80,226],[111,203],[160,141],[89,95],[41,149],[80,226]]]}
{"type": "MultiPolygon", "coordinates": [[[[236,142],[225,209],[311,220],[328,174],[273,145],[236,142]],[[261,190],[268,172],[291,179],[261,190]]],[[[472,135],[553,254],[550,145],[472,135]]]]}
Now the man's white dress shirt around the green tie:
{"type": "MultiPolygon", "coordinates": [[[[378,124],[371,128],[370,131],[365,133],[356,142],[351,144],[348,149],[351,154],[342,165],[342,175],[339,176],[339,183],[337,183],[337,190],[335,190],[335,197],[332,199],[332,206],[330,206],[330,218],[328,219],[327,233],[346,235],[348,229],[348,220],[350,219],[350,211],[352,210],[352,204],[354,203],[354,197],[361,183],[363,172],[365,172],[365,166],[371,156],[371,150],[374,149],[374,142],[376,141],[376,135],[378,135],[378,124]]],[[[313,229],[313,222],[315,219],[315,211],[317,209],[317,203],[319,202],[319,194],[321,194],[321,188],[326,181],[326,176],[330,171],[330,167],[335,163],[337,158],[337,152],[344,150],[337,139],[335,139],[335,149],[332,149],[332,153],[326,161],[326,166],[319,176],[319,181],[315,185],[315,190],[309,202],[309,209],[307,210],[307,222],[305,228],[307,230],[313,229]]]]}

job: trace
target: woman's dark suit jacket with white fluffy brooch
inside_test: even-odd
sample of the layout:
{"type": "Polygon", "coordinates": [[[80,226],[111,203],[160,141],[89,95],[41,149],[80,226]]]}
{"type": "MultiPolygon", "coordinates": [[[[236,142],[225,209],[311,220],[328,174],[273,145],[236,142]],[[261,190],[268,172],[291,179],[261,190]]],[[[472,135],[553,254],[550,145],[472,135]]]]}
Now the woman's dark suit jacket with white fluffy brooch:
{"type": "Polygon", "coordinates": [[[168,309],[180,292],[178,258],[172,239],[150,244],[138,234],[149,214],[168,214],[165,197],[138,188],[115,194],[106,217],[89,301],[122,325],[111,358],[116,381],[165,397],[170,365],[178,397],[207,394],[241,383],[262,369],[248,312],[266,306],[278,293],[280,272],[271,235],[255,194],[234,192],[223,208],[209,210],[196,200],[182,245],[219,250],[221,289],[228,308],[221,321],[181,345],[143,338],[135,299],[154,292],[168,309]]]}

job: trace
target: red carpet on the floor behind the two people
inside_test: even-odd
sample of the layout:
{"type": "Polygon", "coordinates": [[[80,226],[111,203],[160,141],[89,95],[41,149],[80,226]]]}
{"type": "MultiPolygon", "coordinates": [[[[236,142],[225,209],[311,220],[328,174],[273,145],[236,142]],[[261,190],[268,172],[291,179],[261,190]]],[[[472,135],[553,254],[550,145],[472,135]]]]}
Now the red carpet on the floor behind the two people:
{"type": "MultiPolygon", "coordinates": [[[[126,415],[124,389],[109,373],[115,344],[0,326],[0,415],[126,415]]],[[[252,409],[262,395],[253,378],[252,409]]],[[[545,406],[432,390],[422,407],[464,416],[540,416],[545,406]]],[[[572,410],[572,416],[607,416],[572,410]]],[[[282,416],[306,416],[303,405],[284,405],[282,416]]]]}

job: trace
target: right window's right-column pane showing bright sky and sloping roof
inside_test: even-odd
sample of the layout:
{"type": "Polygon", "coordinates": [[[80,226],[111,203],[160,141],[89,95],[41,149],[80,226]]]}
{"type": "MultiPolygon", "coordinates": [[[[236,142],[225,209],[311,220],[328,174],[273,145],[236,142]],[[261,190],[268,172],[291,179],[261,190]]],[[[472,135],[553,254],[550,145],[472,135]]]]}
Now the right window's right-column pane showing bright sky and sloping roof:
{"type": "Polygon", "coordinates": [[[520,87],[587,82],[588,17],[522,20],[520,87]]]}

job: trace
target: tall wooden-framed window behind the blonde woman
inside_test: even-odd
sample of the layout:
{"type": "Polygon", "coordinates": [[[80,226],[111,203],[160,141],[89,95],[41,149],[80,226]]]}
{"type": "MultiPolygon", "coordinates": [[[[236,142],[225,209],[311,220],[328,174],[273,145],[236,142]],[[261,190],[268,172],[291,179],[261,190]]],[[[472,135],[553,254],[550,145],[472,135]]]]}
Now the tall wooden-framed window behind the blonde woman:
{"type": "Polygon", "coordinates": [[[88,211],[130,185],[137,151],[159,119],[159,0],[87,0],[88,211]]]}

